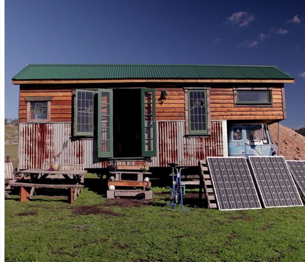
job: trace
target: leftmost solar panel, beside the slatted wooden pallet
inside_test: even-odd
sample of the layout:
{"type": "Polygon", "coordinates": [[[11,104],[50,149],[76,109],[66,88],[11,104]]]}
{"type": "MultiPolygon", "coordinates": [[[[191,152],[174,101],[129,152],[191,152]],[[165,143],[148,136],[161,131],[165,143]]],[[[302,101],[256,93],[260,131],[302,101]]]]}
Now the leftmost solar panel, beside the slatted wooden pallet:
{"type": "Polygon", "coordinates": [[[260,209],[245,157],[207,157],[220,210],[260,209]]]}

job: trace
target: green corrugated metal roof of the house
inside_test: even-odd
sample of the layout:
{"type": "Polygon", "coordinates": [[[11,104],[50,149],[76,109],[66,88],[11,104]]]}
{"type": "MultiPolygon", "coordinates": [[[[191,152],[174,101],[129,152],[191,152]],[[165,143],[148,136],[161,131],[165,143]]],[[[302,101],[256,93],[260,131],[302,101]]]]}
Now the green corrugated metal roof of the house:
{"type": "Polygon", "coordinates": [[[293,80],[275,66],[195,64],[28,64],[12,80],[259,79],[293,80]]]}

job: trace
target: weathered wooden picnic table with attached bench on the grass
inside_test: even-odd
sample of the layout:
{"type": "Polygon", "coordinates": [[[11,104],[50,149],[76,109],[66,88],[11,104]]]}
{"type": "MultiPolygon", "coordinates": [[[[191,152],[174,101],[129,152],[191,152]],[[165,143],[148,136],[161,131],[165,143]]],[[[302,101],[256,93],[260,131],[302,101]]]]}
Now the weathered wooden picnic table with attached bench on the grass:
{"type": "Polygon", "coordinates": [[[68,188],[68,201],[70,204],[73,204],[73,200],[80,193],[80,188],[84,187],[81,183],[86,171],[27,169],[20,171],[20,173],[31,176],[29,180],[21,179],[10,183],[12,186],[20,186],[20,202],[26,202],[30,198],[34,198],[35,188],[68,188]],[[63,178],[58,179],[58,175],[63,175],[63,178]],[[55,178],[52,179],[52,176],[55,178]]]}

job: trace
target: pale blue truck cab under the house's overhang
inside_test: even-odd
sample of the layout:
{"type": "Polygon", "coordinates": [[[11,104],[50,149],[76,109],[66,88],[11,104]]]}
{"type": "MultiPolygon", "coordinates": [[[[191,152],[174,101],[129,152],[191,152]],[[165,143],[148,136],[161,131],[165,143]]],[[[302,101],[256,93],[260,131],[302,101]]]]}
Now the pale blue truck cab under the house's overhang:
{"type": "Polygon", "coordinates": [[[277,155],[264,123],[232,124],[228,135],[229,156],[277,155]]]}

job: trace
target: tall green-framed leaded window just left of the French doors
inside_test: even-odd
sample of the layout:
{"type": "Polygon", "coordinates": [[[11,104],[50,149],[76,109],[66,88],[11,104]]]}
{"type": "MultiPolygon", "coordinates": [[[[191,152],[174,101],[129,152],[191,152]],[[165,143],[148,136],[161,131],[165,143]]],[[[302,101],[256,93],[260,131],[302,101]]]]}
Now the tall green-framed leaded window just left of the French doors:
{"type": "Polygon", "coordinates": [[[92,90],[75,90],[75,136],[94,135],[94,94],[92,90]]]}

